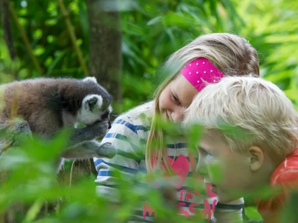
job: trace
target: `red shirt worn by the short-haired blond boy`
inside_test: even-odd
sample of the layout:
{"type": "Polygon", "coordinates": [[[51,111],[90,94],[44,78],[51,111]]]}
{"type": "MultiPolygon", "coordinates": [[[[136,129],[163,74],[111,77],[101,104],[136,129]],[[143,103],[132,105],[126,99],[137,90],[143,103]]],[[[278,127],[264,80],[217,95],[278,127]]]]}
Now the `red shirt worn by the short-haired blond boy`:
{"type": "Polygon", "coordinates": [[[279,223],[279,211],[291,189],[298,190],[298,150],[287,157],[272,173],[270,186],[280,186],[281,192],[270,200],[257,200],[257,210],[265,223],[279,223]]]}

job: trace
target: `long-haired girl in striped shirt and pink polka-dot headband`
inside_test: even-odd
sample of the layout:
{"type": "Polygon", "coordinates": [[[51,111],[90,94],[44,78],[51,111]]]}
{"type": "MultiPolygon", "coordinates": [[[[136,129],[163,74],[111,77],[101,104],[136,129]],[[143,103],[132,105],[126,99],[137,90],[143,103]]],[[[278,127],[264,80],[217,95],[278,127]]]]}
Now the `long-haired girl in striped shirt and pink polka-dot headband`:
{"type": "MultiPolygon", "coordinates": [[[[152,172],[154,162],[151,161],[155,157],[157,164],[162,163],[161,166],[166,170],[179,176],[179,185],[176,185],[176,188],[182,214],[190,216],[200,210],[209,222],[228,222],[231,213],[238,213],[242,219],[243,199],[222,204],[208,185],[206,194],[189,191],[184,182],[195,171],[197,159],[189,155],[184,143],[173,144],[170,139],[165,138],[156,125],[156,119],[161,115],[172,122],[181,122],[184,110],[204,87],[205,81],[215,82],[231,72],[237,75],[259,75],[257,52],[245,39],[237,35],[206,34],[172,54],[165,67],[173,64],[175,70],[158,87],[154,100],[121,114],[103,138],[103,143],[110,142],[115,146],[117,155],[113,159],[94,158],[98,171],[96,191],[106,199],[117,202],[117,178],[113,171],[118,169],[127,175],[137,171],[152,172]],[[154,145],[162,145],[165,140],[167,148],[155,146],[153,154],[149,149],[153,140],[159,142],[154,145]]],[[[152,212],[145,202],[144,207],[136,210],[129,222],[150,221],[153,221],[152,212]]]]}

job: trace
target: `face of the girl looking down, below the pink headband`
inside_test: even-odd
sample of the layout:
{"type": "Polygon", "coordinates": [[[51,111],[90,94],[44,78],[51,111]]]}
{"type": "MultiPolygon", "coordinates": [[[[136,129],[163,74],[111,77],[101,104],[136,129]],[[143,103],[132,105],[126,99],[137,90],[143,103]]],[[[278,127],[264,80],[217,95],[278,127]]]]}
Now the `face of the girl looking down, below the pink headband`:
{"type": "Polygon", "coordinates": [[[198,91],[182,74],[178,75],[163,89],[159,96],[159,111],[172,122],[183,120],[184,111],[190,106],[198,91]]]}

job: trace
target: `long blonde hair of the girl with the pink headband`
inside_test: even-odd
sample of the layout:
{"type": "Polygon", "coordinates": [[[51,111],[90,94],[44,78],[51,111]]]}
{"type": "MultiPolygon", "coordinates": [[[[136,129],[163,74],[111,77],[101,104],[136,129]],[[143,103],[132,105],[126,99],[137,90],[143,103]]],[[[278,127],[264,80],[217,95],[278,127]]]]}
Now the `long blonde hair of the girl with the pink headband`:
{"type": "Polygon", "coordinates": [[[171,72],[154,94],[155,111],[145,151],[146,167],[149,172],[154,169],[151,163],[154,156],[156,156],[157,163],[163,159],[166,170],[169,173],[172,172],[167,151],[164,149],[163,132],[157,125],[157,116],[160,113],[159,96],[164,88],[180,74],[180,69],[187,62],[198,57],[207,58],[224,74],[245,75],[255,73],[259,75],[259,60],[256,50],[242,37],[230,33],[212,33],[199,36],[172,54],[163,67],[167,72],[171,68],[171,72]],[[174,68],[172,67],[173,64],[175,64],[174,68]]]}

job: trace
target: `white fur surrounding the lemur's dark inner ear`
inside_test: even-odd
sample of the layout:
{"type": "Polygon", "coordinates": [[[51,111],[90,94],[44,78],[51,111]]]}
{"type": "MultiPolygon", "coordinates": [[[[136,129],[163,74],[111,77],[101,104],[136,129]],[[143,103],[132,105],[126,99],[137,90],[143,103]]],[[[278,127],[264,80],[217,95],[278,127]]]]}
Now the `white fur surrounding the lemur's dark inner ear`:
{"type": "Polygon", "coordinates": [[[102,115],[101,106],[102,97],[100,95],[87,95],[82,101],[82,107],[77,114],[77,121],[88,125],[100,119],[102,115]],[[94,97],[97,98],[96,106],[93,111],[90,111],[88,101],[94,97]]]}

